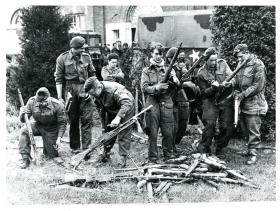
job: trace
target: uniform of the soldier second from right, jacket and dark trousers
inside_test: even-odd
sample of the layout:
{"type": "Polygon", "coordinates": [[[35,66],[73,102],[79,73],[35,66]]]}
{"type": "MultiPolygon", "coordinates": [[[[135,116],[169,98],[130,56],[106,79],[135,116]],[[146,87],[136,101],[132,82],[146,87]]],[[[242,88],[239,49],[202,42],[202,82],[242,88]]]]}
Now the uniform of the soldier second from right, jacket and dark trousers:
{"type": "Polygon", "coordinates": [[[225,60],[218,59],[215,68],[210,68],[206,64],[198,71],[198,86],[201,90],[202,98],[202,121],[205,125],[201,143],[198,146],[200,152],[210,152],[212,139],[215,136],[215,128],[218,119],[219,134],[215,136],[217,150],[227,146],[233,132],[233,100],[229,99],[223,104],[216,104],[217,88],[211,86],[212,81],[221,84],[232,74],[225,60]]]}

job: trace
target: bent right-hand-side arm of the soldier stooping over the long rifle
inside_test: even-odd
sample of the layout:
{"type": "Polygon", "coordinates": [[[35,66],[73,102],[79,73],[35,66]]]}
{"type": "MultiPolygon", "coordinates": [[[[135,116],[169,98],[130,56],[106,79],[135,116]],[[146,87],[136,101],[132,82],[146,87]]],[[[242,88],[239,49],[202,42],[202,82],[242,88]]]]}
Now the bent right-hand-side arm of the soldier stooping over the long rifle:
{"type": "Polygon", "coordinates": [[[117,116],[123,119],[129,109],[133,106],[134,99],[131,98],[127,92],[120,90],[116,90],[113,97],[116,100],[117,104],[120,106],[120,110],[117,113],[117,116]]]}

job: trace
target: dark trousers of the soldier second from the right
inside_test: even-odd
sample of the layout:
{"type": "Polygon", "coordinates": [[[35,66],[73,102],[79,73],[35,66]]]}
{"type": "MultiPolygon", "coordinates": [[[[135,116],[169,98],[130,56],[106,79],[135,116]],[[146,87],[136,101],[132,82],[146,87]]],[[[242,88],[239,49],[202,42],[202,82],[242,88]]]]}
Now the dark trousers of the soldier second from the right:
{"type": "Polygon", "coordinates": [[[202,115],[202,121],[205,127],[198,146],[199,152],[210,153],[210,147],[214,137],[217,150],[226,147],[233,133],[233,118],[234,111],[231,105],[208,105],[207,110],[203,110],[202,115]],[[215,134],[217,123],[219,124],[219,134],[215,134]]]}

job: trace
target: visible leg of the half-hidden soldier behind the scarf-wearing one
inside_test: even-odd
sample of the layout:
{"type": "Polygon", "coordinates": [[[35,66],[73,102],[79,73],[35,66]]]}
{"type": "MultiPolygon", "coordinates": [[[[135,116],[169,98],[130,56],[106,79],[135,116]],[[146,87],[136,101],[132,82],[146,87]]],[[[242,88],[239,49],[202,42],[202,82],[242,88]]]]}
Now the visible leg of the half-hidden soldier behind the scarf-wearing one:
{"type": "Polygon", "coordinates": [[[185,135],[188,121],[189,121],[189,103],[181,102],[179,103],[179,119],[178,119],[178,130],[176,137],[176,144],[179,144],[185,135]]]}

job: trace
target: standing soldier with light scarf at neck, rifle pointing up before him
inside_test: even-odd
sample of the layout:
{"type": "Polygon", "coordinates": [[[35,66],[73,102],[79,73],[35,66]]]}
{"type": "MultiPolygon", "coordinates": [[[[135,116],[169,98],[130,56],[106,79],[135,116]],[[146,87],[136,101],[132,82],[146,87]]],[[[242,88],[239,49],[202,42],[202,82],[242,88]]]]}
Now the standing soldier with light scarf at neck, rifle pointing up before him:
{"type": "MultiPolygon", "coordinates": [[[[148,159],[151,163],[158,160],[157,136],[159,128],[162,133],[162,149],[164,160],[173,156],[173,135],[174,135],[174,115],[173,101],[171,92],[168,90],[168,83],[161,83],[165,76],[166,68],[164,66],[163,48],[156,45],[151,49],[152,58],[150,65],[144,68],[141,76],[141,88],[146,94],[146,105],[153,105],[152,109],[146,114],[147,134],[149,136],[148,159]]],[[[170,79],[179,85],[174,70],[170,79]]]]}

